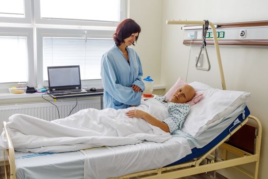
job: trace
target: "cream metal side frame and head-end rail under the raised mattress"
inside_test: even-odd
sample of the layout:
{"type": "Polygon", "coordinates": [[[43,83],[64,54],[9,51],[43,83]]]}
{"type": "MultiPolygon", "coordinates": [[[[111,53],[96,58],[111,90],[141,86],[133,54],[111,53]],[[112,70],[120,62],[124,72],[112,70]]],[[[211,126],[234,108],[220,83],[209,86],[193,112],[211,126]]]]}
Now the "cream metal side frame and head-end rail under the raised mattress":
{"type": "Polygon", "coordinates": [[[192,162],[187,162],[183,164],[178,164],[174,166],[169,166],[169,167],[163,167],[163,168],[158,168],[155,170],[148,170],[148,171],[142,171],[142,172],[137,172],[137,173],[132,173],[124,176],[119,176],[119,177],[112,177],[112,178],[130,178],[130,177],[138,177],[138,178],[146,178],[146,179],[159,179],[159,178],[178,178],[178,177],[184,177],[184,176],[189,176],[189,175],[194,175],[198,173],[204,173],[208,171],[213,171],[213,170],[218,170],[218,169],[223,169],[223,168],[229,168],[229,167],[235,167],[238,165],[242,164],[247,164],[247,163],[255,163],[255,172],[254,174],[247,174],[244,171],[241,171],[240,169],[238,171],[247,174],[251,178],[257,179],[258,178],[258,168],[259,168],[259,158],[260,158],[260,144],[261,144],[261,133],[262,133],[262,128],[261,128],[261,123],[258,118],[254,116],[248,116],[248,118],[241,123],[237,128],[235,128],[230,134],[222,140],[220,143],[218,143],[215,147],[213,147],[210,151],[205,153],[203,156],[201,156],[200,159],[197,161],[192,161],[192,162]],[[226,139],[228,139],[230,136],[233,135],[234,132],[236,132],[242,125],[246,124],[249,119],[252,119],[256,121],[257,123],[257,128],[258,128],[258,133],[256,136],[256,144],[255,144],[255,154],[247,153],[245,155],[245,151],[242,151],[240,149],[237,149],[235,147],[234,150],[240,151],[242,156],[239,158],[235,159],[229,159],[226,161],[218,161],[218,162],[212,162],[209,164],[205,165],[199,165],[213,150],[215,150],[217,147],[220,147],[226,139]],[[188,166],[188,167],[187,167],[188,166]],[[149,175],[148,175],[149,174],[149,175]]]}

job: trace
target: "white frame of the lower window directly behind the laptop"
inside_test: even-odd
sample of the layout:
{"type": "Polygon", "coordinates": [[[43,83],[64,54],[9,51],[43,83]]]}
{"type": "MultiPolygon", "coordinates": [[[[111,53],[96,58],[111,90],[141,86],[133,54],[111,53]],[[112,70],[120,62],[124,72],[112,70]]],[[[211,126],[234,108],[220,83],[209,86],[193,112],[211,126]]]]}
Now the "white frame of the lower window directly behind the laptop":
{"type": "MultiPolygon", "coordinates": [[[[86,38],[85,31],[87,31],[87,38],[107,38],[112,39],[115,29],[36,29],[36,44],[37,44],[37,83],[42,86],[48,86],[48,81],[43,80],[43,37],[78,37],[86,38]]],[[[99,87],[102,85],[101,79],[82,80],[83,87],[99,87]]]]}

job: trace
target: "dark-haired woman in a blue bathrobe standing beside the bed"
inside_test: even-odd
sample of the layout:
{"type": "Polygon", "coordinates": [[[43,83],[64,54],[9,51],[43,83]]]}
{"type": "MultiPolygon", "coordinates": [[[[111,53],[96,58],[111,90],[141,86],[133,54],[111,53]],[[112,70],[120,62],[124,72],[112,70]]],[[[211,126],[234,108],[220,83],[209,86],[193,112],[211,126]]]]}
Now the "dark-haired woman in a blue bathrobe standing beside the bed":
{"type": "Polygon", "coordinates": [[[141,62],[138,54],[129,48],[135,45],[140,31],[134,20],[123,20],[113,35],[114,46],[102,57],[104,108],[124,109],[140,104],[144,90],[141,62]]]}

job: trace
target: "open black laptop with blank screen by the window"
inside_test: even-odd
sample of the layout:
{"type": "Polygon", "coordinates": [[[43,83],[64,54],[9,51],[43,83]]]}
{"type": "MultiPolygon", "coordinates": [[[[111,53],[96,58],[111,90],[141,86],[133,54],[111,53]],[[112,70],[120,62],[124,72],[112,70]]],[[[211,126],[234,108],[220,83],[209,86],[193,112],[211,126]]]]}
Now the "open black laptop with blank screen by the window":
{"type": "Polygon", "coordinates": [[[81,88],[80,66],[47,66],[48,89],[54,96],[87,93],[81,88]]]}

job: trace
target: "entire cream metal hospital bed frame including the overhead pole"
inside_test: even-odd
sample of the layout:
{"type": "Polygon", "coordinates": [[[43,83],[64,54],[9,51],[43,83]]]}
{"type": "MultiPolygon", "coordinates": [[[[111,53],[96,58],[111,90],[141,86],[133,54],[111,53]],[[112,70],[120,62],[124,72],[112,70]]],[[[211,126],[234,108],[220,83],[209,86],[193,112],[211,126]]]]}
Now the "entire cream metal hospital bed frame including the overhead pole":
{"type": "MultiPolygon", "coordinates": [[[[181,24],[181,25],[204,25],[205,21],[187,21],[187,20],[167,20],[167,24],[181,24]]],[[[212,33],[213,36],[216,36],[216,30],[214,25],[209,22],[209,26],[212,28],[212,33]]],[[[220,55],[220,49],[218,47],[218,41],[217,38],[214,39],[214,45],[215,45],[215,50],[216,50],[216,55],[218,59],[218,66],[220,69],[221,73],[221,81],[222,81],[222,86],[223,89],[226,89],[226,84],[225,84],[225,79],[224,79],[224,73],[223,73],[223,66],[222,66],[222,61],[221,61],[221,55],[220,55]]],[[[11,141],[11,138],[8,134],[8,131],[6,129],[6,122],[3,123],[4,125],[4,130],[7,135],[7,142],[8,142],[8,149],[6,150],[7,156],[8,156],[8,161],[5,161],[5,178],[16,178],[16,167],[15,167],[15,152],[14,152],[14,147],[11,141]],[[7,164],[9,162],[9,164],[7,164]]],[[[260,159],[260,145],[261,145],[261,123],[259,119],[257,119],[254,116],[249,116],[245,121],[241,123],[238,127],[236,127],[232,132],[229,133],[229,135],[223,139],[220,143],[215,145],[212,149],[210,149],[208,152],[206,152],[204,155],[200,156],[197,159],[194,159],[190,162],[186,162],[183,164],[179,165],[173,165],[169,167],[162,167],[154,170],[148,170],[148,171],[142,171],[142,172],[137,172],[137,173],[132,173],[124,176],[119,176],[115,178],[179,178],[179,177],[184,177],[184,176],[189,176],[189,175],[194,175],[198,173],[204,173],[208,171],[213,171],[213,170],[218,170],[218,169],[223,169],[223,168],[228,168],[228,167],[234,167],[236,170],[250,176],[251,178],[257,179],[258,177],[258,169],[259,169],[259,159],[260,159]],[[244,124],[248,122],[249,119],[252,119],[256,122],[257,124],[257,135],[256,135],[256,143],[255,143],[255,152],[254,154],[248,153],[246,151],[243,151],[241,149],[238,149],[234,146],[231,146],[229,144],[224,143],[227,139],[229,139],[234,132],[236,132],[240,127],[242,127],[244,124]],[[207,164],[202,164],[201,163],[211,155],[211,153],[216,150],[218,147],[223,148],[225,152],[229,151],[231,153],[236,154],[238,157],[234,159],[223,159],[223,160],[211,160],[210,163],[207,164]],[[255,171],[254,174],[251,174],[242,168],[237,167],[238,165],[242,164],[248,164],[248,163],[255,163],[255,171]]],[[[227,154],[227,153],[226,153],[227,154]]],[[[226,156],[225,154],[225,156],[226,156]]]]}

